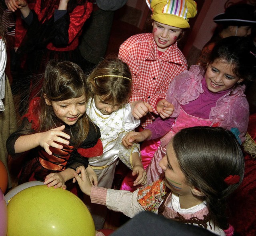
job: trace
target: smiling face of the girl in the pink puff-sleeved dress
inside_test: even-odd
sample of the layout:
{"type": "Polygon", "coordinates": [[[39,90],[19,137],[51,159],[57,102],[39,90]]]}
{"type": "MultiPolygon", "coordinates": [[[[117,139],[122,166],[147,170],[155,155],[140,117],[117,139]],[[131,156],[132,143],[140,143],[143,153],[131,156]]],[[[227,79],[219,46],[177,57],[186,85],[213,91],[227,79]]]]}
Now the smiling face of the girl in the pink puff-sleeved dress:
{"type": "Polygon", "coordinates": [[[224,59],[216,59],[210,63],[205,73],[205,81],[208,89],[217,93],[228,90],[242,82],[243,79],[238,78],[232,70],[232,66],[224,59]]]}

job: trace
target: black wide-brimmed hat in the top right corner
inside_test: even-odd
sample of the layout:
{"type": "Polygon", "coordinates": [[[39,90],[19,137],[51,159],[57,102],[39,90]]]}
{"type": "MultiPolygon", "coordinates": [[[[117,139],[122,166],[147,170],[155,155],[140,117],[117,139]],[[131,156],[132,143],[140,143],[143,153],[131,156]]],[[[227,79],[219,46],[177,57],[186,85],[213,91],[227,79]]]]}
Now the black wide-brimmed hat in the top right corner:
{"type": "Polygon", "coordinates": [[[213,21],[217,24],[228,24],[230,26],[254,26],[256,25],[254,6],[234,4],[226,8],[224,13],[215,16],[213,21]]]}

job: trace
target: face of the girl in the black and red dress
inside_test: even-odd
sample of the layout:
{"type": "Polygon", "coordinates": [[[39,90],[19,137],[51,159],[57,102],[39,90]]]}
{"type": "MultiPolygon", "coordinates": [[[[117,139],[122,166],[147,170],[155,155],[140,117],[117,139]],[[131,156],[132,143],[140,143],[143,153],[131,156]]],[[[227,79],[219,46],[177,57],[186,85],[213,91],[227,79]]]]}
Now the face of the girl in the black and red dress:
{"type": "Polygon", "coordinates": [[[64,101],[49,101],[46,98],[45,102],[47,105],[52,106],[56,117],[67,125],[74,125],[86,109],[85,95],[64,101]]]}

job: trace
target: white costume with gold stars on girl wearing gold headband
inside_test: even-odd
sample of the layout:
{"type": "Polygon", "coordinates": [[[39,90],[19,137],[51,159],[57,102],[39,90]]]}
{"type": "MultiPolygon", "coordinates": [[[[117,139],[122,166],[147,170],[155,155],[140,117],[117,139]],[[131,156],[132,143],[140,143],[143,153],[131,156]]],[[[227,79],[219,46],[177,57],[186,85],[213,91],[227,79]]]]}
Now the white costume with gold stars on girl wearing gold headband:
{"type": "Polygon", "coordinates": [[[89,158],[89,164],[98,177],[98,186],[111,188],[114,171],[118,160],[132,169],[132,153],[139,151],[139,145],[134,144],[130,149],[122,145],[122,138],[127,132],[133,131],[140,124],[140,120],[134,118],[130,104],[126,104],[110,115],[102,115],[95,107],[94,99],[90,99],[86,113],[100,128],[103,154],[89,158]]]}

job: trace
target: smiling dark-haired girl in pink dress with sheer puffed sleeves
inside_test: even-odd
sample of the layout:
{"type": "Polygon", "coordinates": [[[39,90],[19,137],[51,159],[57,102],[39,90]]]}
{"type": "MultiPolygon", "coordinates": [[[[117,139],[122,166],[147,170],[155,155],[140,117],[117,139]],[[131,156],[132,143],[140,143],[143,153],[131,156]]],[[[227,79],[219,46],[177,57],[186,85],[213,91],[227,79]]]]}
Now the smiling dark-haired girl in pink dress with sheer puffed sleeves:
{"type": "Polygon", "coordinates": [[[244,141],[249,119],[244,83],[255,78],[255,64],[252,41],[232,36],[216,44],[206,69],[194,65],[174,78],[166,96],[175,107],[171,117],[159,118],[142,132],[128,133],[122,140],[130,147],[134,142],[161,137],[161,145],[146,170],[148,183],[162,173],[159,161],[166,154],[166,145],[180,129],[221,126],[234,131],[240,143],[244,141]]]}

